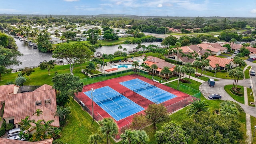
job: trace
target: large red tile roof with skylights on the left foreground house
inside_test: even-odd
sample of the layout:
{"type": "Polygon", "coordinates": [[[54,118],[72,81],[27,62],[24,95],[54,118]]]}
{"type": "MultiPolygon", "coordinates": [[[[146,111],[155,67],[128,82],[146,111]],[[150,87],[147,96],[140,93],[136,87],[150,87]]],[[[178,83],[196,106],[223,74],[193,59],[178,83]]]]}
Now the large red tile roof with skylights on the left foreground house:
{"type": "Polygon", "coordinates": [[[54,120],[52,126],[59,127],[59,120],[56,117],[54,118],[52,114],[57,109],[55,89],[8,95],[5,102],[3,118],[14,116],[14,124],[17,124],[22,119],[25,119],[26,116],[32,117],[36,109],[41,108],[43,114],[45,113],[45,115],[47,114],[47,116],[51,117],[46,118],[47,116],[45,116],[44,118],[54,120]],[[50,99],[50,103],[45,104],[45,100],[48,99],[50,99]],[[36,101],[41,101],[42,104],[36,106],[36,101]]]}

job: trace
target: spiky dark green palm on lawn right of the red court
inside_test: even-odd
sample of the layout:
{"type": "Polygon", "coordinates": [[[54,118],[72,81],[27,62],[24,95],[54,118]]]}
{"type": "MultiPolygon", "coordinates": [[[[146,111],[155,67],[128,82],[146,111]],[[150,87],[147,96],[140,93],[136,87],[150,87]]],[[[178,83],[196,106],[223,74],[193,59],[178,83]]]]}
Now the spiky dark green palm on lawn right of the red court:
{"type": "Polygon", "coordinates": [[[198,112],[207,112],[209,110],[208,104],[205,100],[194,100],[193,102],[190,102],[191,105],[188,106],[188,109],[186,110],[187,116],[191,117],[194,114],[198,114],[198,112]]]}

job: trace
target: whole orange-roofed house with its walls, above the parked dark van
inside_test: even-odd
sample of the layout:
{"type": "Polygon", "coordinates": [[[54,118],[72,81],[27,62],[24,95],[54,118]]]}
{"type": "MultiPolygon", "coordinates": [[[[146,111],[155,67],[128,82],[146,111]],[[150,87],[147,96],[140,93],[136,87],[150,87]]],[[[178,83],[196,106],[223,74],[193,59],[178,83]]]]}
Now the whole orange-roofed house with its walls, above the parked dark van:
{"type": "Polygon", "coordinates": [[[220,70],[226,70],[226,64],[230,64],[230,68],[236,67],[233,59],[219,58],[216,56],[208,56],[206,60],[209,60],[210,66],[206,66],[208,70],[216,70],[216,64],[219,64],[220,70]]]}

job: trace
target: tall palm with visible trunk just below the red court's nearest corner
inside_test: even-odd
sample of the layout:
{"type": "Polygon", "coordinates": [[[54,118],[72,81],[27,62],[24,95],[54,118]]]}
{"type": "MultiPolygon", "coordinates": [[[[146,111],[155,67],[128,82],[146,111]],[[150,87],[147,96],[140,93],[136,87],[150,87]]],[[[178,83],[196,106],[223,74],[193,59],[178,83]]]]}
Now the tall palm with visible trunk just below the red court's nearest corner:
{"type": "Polygon", "coordinates": [[[118,126],[112,118],[103,118],[98,122],[100,124],[99,131],[106,136],[107,144],[110,144],[110,137],[118,134],[118,126]]]}

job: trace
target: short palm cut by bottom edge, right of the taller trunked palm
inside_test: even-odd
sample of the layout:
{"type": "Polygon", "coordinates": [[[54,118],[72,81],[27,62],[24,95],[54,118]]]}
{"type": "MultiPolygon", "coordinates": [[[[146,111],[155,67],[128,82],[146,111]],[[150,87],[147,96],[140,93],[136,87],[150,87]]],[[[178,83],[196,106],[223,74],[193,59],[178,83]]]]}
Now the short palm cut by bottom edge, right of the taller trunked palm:
{"type": "Polygon", "coordinates": [[[122,138],[122,144],[138,144],[138,136],[135,130],[125,130],[124,133],[120,135],[122,138]]]}

